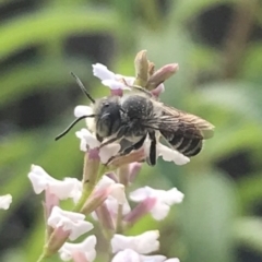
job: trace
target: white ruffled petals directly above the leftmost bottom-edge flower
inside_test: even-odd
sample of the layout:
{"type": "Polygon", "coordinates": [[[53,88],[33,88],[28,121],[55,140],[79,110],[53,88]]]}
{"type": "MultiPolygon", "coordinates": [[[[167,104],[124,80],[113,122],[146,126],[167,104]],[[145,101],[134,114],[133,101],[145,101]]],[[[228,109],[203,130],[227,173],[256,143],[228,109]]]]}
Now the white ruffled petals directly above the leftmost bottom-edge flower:
{"type": "Polygon", "coordinates": [[[61,227],[64,231],[70,231],[69,239],[75,240],[79,236],[93,229],[90,222],[84,221],[85,215],[63,211],[59,206],[53,206],[47,224],[52,228],[61,227]]]}

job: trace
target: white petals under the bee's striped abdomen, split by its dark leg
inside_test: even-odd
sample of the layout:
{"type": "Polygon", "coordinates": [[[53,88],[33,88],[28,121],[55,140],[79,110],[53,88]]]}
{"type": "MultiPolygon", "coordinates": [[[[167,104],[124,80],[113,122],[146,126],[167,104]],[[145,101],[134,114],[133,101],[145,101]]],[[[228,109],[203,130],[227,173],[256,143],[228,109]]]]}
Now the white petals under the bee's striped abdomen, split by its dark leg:
{"type": "MultiPolygon", "coordinates": [[[[144,143],[145,154],[150,155],[151,141],[146,138],[144,143]]],[[[156,156],[162,156],[166,162],[174,162],[176,165],[184,165],[190,162],[189,157],[182,155],[174,148],[169,148],[160,142],[156,143],[156,156]]]]}

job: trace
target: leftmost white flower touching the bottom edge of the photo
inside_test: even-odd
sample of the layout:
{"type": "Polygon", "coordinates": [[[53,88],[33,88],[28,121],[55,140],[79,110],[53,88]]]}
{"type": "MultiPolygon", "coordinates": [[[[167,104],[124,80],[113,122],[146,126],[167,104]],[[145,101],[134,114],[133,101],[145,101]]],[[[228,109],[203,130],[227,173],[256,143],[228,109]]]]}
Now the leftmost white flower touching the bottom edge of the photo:
{"type": "Polygon", "coordinates": [[[81,253],[86,261],[92,262],[96,258],[96,237],[90,236],[83,242],[69,243],[66,242],[59,250],[60,258],[62,261],[70,261],[76,253],[81,253]]]}

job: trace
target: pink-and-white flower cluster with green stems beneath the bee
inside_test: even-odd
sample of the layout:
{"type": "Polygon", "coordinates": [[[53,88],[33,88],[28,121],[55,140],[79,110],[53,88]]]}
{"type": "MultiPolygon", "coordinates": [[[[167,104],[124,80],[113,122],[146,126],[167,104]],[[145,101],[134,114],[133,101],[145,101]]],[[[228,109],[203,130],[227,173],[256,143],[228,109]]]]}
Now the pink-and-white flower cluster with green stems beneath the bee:
{"type": "MultiPolygon", "coordinates": [[[[99,63],[93,66],[93,73],[110,88],[111,95],[122,96],[124,91],[132,90],[132,85],[139,85],[157,97],[164,92],[163,82],[177,69],[177,64],[167,64],[154,71],[145,51],[141,51],[135,58],[135,78],[115,74],[99,63]]],[[[78,106],[74,110],[75,117],[90,114],[92,107],[78,106]]],[[[114,142],[102,146],[103,142],[97,140],[92,126],[94,122],[88,119],[86,128],[76,132],[80,150],[85,154],[82,181],[76,178],[57,180],[41,167],[31,167],[28,178],[35,193],[45,193],[47,240],[38,262],[57,252],[62,261],[94,261],[98,255],[97,237],[90,233],[97,224],[108,246],[108,259],[112,262],[179,262],[175,258],[151,254],[159,249],[158,230],[145,231],[139,236],[124,236],[124,233],[144,215],[151,215],[155,221],[164,219],[171,205],[182,202],[183,194],[176,188],[165,191],[148,186],[128,193],[129,186],[141,169],[141,160],[148,155],[148,141],[145,140],[140,150],[109,163],[121,150],[120,144],[114,142]],[[72,211],[61,209],[60,202],[67,199],[71,199],[74,204],[72,211]],[[130,201],[134,203],[130,205],[130,201]],[[82,235],[85,238],[80,242],[76,239],[82,235]],[[75,240],[78,242],[72,242],[75,240]]],[[[158,141],[156,156],[177,165],[189,162],[188,157],[158,141]]],[[[0,198],[0,204],[1,201],[0,198]]]]}

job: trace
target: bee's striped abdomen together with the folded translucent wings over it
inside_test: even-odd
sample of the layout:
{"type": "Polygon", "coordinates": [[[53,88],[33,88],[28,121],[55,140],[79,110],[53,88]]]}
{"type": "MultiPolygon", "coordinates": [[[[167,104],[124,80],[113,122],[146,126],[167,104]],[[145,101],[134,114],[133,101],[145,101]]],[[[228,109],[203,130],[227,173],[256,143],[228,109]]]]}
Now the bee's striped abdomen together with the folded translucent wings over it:
{"type": "Polygon", "coordinates": [[[183,155],[196,155],[202,148],[202,141],[214,134],[214,126],[200,117],[165,105],[162,111],[159,131],[183,155]]]}

